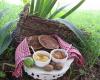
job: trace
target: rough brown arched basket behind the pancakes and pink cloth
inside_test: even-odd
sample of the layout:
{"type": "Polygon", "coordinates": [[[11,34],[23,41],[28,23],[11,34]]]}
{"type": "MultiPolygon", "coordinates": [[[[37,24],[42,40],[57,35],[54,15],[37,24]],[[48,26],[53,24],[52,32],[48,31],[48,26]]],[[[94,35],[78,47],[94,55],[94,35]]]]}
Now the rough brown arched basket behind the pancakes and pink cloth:
{"type": "MultiPolygon", "coordinates": [[[[70,25],[70,23],[66,24],[70,25]]],[[[17,28],[13,32],[13,41],[18,45],[25,37],[41,34],[57,34],[73,45],[79,42],[76,35],[66,25],[55,20],[42,19],[35,16],[20,18],[17,28]]]]}

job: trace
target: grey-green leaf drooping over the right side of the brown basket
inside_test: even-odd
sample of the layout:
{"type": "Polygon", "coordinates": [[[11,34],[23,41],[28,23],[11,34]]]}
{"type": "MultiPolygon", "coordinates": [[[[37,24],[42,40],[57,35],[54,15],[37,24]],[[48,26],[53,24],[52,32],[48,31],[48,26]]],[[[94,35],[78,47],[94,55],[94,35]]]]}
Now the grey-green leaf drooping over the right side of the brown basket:
{"type": "Polygon", "coordinates": [[[70,30],[72,30],[75,33],[75,35],[77,36],[77,38],[79,38],[80,41],[83,43],[83,45],[86,46],[85,35],[80,29],[78,29],[76,26],[74,26],[73,24],[69,23],[65,19],[57,19],[57,21],[59,21],[60,23],[65,24],[70,30]]]}

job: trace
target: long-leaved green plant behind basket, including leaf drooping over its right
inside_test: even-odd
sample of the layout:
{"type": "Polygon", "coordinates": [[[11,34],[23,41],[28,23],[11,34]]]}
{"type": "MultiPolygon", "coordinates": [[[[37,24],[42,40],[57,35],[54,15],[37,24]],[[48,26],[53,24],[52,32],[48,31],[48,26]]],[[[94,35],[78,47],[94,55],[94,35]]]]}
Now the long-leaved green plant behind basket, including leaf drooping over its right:
{"type": "MultiPolygon", "coordinates": [[[[58,0],[23,0],[23,2],[30,3],[30,15],[38,16],[41,18],[47,18],[47,19],[55,19],[55,16],[57,16],[60,12],[63,12],[63,10],[70,4],[66,4],[58,9],[54,9],[54,6],[58,0]]],[[[61,22],[67,27],[72,30],[76,36],[80,39],[80,41],[85,45],[86,40],[84,37],[84,34],[81,30],[79,30],[76,26],[72,25],[71,23],[66,22],[64,18],[69,16],[72,12],[74,12],[85,0],[80,0],[79,3],[77,3],[73,8],[69,9],[69,11],[65,11],[60,16],[57,16],[57,18],[60,18],[57,20],[58,22],[61,22]],[[63,20],[61,20],[63,19],[63,20]],[[69,24],[69,25],[68,25],[69,24]]]]}

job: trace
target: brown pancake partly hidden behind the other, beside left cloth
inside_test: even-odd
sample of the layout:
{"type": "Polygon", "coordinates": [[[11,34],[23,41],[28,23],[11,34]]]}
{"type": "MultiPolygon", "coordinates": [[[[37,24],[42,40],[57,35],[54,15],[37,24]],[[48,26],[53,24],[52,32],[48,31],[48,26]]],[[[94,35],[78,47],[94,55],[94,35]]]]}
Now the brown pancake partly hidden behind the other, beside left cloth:
{"type": "Polygon", "coordinates": [[[28,37],[27,41],[28,41],[28,45],[32,46],[34,49],[43,48],[42,45],[39,43],[38,35],[28,37]]]}

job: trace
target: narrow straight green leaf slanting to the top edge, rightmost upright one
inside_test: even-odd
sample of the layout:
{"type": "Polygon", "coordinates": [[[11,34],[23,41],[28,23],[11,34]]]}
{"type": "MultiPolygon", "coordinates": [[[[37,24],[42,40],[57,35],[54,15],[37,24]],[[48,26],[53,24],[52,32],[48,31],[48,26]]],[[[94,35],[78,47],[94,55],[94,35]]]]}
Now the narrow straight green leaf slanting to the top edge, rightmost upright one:
{"type": "Polygon", "coordinates": [[[74,12],[77,8],[79,8],[83,4],[84,1],[85,0],[81,0],[76,6],[74,6],[72,9],[70,9],[68,12],[66,12],[64,15],[61,15],[60,18],[62,18],[62,19],[66,18],[68,15],[70,15],[72,12],[74,12]]]}

